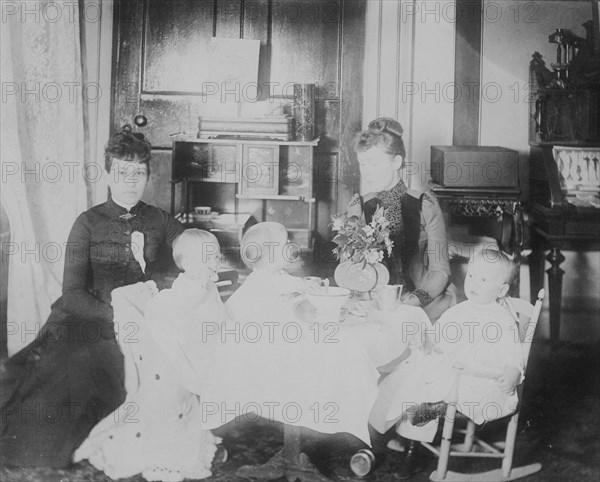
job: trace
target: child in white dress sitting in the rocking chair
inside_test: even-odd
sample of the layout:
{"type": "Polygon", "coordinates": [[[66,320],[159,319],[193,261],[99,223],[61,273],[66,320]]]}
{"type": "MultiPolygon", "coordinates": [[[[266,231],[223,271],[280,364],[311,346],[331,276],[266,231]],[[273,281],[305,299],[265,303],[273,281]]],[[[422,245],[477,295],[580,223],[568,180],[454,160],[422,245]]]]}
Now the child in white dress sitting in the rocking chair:
{"type": "MultiPolygon", "coordinates": [[[[474,254],[465,278],[467,300],[448,309],[380,383],[369,420],[377,431],[399,422],[399,435],[431,442],[456,389],[457,410],[477,424],[515,411],[524,362],[518,319],[506,304],[514,272],[514,263],[500,251],[474,254]],[[458,387],[455,370],[462,373],[458,387]]],[[[388,447],[400,448],[390,442],[388,447]]],[[[414,457],[415,448],[411,442],[407,457],[414,457]]]]}

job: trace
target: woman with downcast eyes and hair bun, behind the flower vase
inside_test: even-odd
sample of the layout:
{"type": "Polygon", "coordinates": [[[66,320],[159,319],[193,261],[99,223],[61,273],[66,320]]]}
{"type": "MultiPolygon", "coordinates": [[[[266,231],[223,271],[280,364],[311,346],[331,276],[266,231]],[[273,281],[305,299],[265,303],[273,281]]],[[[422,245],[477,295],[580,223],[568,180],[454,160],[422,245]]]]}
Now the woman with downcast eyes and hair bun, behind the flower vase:
{"type": "Polygon", "coordinates": [[[356,155],[367,194],[354,195],[348,214],[371,222],[377,206],[385,208],[394,242],[391,256],[384,258],[390,284],[403,284],[403,303],[421,306],[436,320],[454,300],[447,291],[446,225],[433,193],[408,189],[401,179],[406,157],[402,133],[400,123],[385,117],[360,133],[356,155]]]}

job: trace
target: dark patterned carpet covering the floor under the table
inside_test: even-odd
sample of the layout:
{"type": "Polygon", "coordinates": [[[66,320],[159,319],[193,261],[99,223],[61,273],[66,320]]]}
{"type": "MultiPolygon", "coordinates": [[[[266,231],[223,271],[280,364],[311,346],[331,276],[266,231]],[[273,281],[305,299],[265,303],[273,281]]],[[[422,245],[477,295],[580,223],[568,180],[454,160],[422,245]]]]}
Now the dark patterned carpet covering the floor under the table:
{"type": "MultiPolygon", "coordinates": [[[[523,481],[600,480],[600,347],[566,345],[552,351],[547,343],[533,346],[521,411],[515,466],[542,463],[542,471],[523,481]]],[[[484,429],[496,432],[501,422],[484,429]]],[[[268,421],[234,421],[218,430],[229,452],[225,463],[215,464],[210,481],[248,480],[235,475],[244,464],[261,464],[282,446],[282,426],[268,421]]],[[[374,439],[377,466],[367,482],[397,480],[402,456],[385,449],[385,437],[374,439]]],[[[303,450],[320,471],[333,481],[359,480],[350,471],[352,454],[362,448],[350,435],[325,436],[315,432],[303,436],[303,450]]],[[[424,454],[425,469],[412,480],[428,480],[435,459],[424,454]]],[[[124,457],[127,454],[123,455],[124,457]]],[[[461,460],[450,468],[477,472],[495,468],[494,461],[461,460]]],[[[110,480],[89,464],[69,470],[0,469],[2,481],[82,482],[110,480]]],[[[141,477],[127,482],[143,481],[141,477]]],[[[285,479],[281,479],[285,480],[285,479]]]]}

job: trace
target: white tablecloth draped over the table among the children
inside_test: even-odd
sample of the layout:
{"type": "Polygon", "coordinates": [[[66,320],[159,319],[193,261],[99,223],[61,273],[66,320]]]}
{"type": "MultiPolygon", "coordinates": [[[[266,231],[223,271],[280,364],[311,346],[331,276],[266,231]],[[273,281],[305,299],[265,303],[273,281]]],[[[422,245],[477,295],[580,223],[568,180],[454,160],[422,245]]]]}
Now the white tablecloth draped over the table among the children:
{"type": "MultiPolygon", "coordinates": [[[[139,320],[140,330],[150,329],[131,315],[131,304],[117,298],[113,306],[117,322],[139,320]]],[[[151,334],[181,369],[185,388],[198,394],[205,429],[262,416],[328,434],[348,432],[370,444],[377,367],[400,356],[416,330],[431,326],[424,311],[400,305],[369,321],[349,317],[339,324],[302,321],[293,309],[278,313],[244,324],[198,320],[196,335],[185,337],[169,331],[165,319],[164,329],[151,334]]],[[[139,344],[123,345],[128,389],[136,385],[140,350],[139,344]]]]}

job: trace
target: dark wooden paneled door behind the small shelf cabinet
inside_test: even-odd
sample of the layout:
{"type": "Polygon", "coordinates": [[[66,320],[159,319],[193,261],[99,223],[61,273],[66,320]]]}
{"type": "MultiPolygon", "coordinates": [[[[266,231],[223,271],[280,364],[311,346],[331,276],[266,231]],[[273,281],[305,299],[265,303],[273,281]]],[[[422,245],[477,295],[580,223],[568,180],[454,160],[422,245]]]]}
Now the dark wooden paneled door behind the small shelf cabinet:
{"type": "MultiPolygon", "coordinates": [[[[319,232],[356,189],[346,145],[362,108],[365,0],[122,0],[115,19],[117,130],[137,114],[155,148],[147,197],[168,208],[172,136],[195,134],[198,117],[291,113],[294,83],[317,85],[316,191],[319,232]],[[257,82],[225,86],[211,77],[212,37],[260,40],[257,82]]],[[[252,204],[254,203],[254,204],[252,204]]],[[[258,210],[247,201],[240,210],[258,210]]]]}

